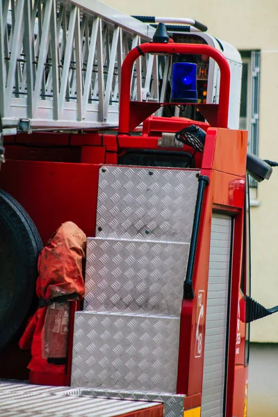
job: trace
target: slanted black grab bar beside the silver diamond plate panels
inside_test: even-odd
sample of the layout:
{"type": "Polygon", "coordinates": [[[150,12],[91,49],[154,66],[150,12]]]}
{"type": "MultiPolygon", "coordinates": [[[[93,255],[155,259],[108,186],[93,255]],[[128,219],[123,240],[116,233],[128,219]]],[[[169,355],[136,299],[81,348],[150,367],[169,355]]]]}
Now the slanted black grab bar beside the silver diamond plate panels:
{"type": "Polygon", "coordinates": [[[183,284],[183,298],[185,300],[193,300],[194,295],[195,295],[194,290],[193,290],[193,281],[192,281],[193,268],[194,268],[195,256],[196,256],[197,238],[198,238],[198,233],[199,233],[199,223],[201,220],[204,190],[209,183],[209,179],[205,175],[200,175],[198,181],[199,181],[199,186],[198,186],[198,191],[197,191],[195,214],[194,214],[194,219],[193,219],[190,250],[188,254],[186,280],[184,281],[184,284],[183,284]]]}

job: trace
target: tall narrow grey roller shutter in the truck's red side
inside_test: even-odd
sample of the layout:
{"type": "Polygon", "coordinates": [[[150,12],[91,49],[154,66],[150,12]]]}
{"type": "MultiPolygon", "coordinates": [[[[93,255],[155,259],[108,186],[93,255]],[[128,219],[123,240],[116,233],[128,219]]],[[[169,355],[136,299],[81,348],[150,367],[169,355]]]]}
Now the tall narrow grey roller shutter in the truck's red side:
{"type": "Polygon", "coordinates": [[[232,218],[213,214],[208,270],[202,417],[224,416],[232,218]]]}

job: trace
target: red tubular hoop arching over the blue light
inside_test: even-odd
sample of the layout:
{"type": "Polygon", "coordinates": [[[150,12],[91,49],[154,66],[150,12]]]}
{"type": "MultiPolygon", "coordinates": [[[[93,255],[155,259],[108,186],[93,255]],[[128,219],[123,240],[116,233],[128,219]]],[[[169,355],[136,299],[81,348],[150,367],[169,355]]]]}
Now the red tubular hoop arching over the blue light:
{"type": "Polygon", "coordinates": [[[205,54],[213,58],[220,68],[220,92],[218,104],[218,126],[228,126],[229,112],[229,87],[230,87],[230,68],[224,55],[208,45],[200,44],[160,44],[145,43],[140,47],[132,49],[127,54],[122,64],[121,72],[121,90],[120,90],[120,109],[119,109],[119,133],[129,133],[129,115],[130,115],[130,90],[131,90],[131,69],[134,61],[142,54],[188,54],[199,55],[205,54]]]}

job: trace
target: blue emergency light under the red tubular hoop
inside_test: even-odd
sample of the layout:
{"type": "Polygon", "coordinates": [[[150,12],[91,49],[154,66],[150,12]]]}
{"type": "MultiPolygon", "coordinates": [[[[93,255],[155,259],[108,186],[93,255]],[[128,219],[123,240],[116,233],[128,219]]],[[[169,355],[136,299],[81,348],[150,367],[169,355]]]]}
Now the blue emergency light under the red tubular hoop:
{"type": "Polygon", "coordinates": [[[172,103],[197,103],[197,65],[174,63],[172,67],[172,103]]]}

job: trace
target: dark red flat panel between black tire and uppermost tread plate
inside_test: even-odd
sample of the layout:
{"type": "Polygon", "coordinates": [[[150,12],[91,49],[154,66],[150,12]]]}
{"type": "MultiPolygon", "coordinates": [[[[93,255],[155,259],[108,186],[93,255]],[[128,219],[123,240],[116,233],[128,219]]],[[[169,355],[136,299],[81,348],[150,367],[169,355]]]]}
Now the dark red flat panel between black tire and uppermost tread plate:
{"type": "Polygon", "coordinates": [[[67,220],[95,236],[99,166],[6,161],[0,186],[31,215],[43,243],[67,220]]]}

